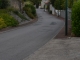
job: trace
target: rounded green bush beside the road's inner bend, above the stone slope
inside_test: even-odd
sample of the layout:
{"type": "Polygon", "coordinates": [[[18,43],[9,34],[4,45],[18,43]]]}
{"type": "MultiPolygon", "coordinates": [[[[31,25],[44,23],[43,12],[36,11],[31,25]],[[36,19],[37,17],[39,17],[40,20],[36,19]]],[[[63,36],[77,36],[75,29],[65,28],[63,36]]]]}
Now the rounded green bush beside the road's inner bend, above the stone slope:
{"type": "Polygon", "coordinates": [[[30,1],[26,2],[25,7],[23,9],[30,18],[36,17],[36,9],[30,1]]]}

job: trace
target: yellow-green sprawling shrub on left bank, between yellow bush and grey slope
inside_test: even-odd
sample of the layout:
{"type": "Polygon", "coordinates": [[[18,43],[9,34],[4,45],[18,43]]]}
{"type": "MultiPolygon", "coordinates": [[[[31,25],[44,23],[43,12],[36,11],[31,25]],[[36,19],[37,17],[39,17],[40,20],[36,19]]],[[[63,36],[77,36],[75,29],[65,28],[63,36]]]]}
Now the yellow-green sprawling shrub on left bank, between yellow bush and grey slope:
{"type": "Polygon", "coordinates": [[[5,9],[0,10],[0,17],[4,20],[7,26],[13,27],[18,25],[18,21],[15,20],[5,9]]]}

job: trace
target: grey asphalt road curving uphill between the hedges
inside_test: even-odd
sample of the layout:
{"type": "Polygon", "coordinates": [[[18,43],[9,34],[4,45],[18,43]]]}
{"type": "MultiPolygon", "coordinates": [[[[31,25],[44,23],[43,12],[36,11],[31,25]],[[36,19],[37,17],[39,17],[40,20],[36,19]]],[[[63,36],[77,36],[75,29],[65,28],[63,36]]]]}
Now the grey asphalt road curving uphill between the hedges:
{"type": "Polygon", "coordinates": [[[0,60],[23,60],[55,37],[64,22],[37,9],[38,21],[0,33],[0,60]]]}

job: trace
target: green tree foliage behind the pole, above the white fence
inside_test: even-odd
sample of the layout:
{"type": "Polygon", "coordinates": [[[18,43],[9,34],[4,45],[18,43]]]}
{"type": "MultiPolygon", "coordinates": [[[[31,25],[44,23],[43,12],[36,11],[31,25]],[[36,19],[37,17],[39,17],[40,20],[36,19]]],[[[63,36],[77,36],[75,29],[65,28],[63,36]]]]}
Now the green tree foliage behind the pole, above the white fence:
{"type": "MultiPolygon", "coordinates": [[[[72,5],[74,2],[77,0],[68,0],[68,7],[72,8],[72,5]]],[[[66,0],[51,0],[52,5],[57,9],[57,10],[63,10],[65,9],[65,2],[66,0]]]]}

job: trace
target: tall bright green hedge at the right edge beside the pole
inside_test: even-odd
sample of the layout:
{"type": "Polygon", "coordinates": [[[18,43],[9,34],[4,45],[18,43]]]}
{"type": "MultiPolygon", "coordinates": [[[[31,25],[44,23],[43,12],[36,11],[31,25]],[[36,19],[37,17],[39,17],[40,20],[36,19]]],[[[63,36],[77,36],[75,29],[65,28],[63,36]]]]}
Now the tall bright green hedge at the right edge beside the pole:
{"type": "Polygon", "coordinates": [[[75,2],[72,7],[72,33],[80,36],[80,0],[75,2]]]}

